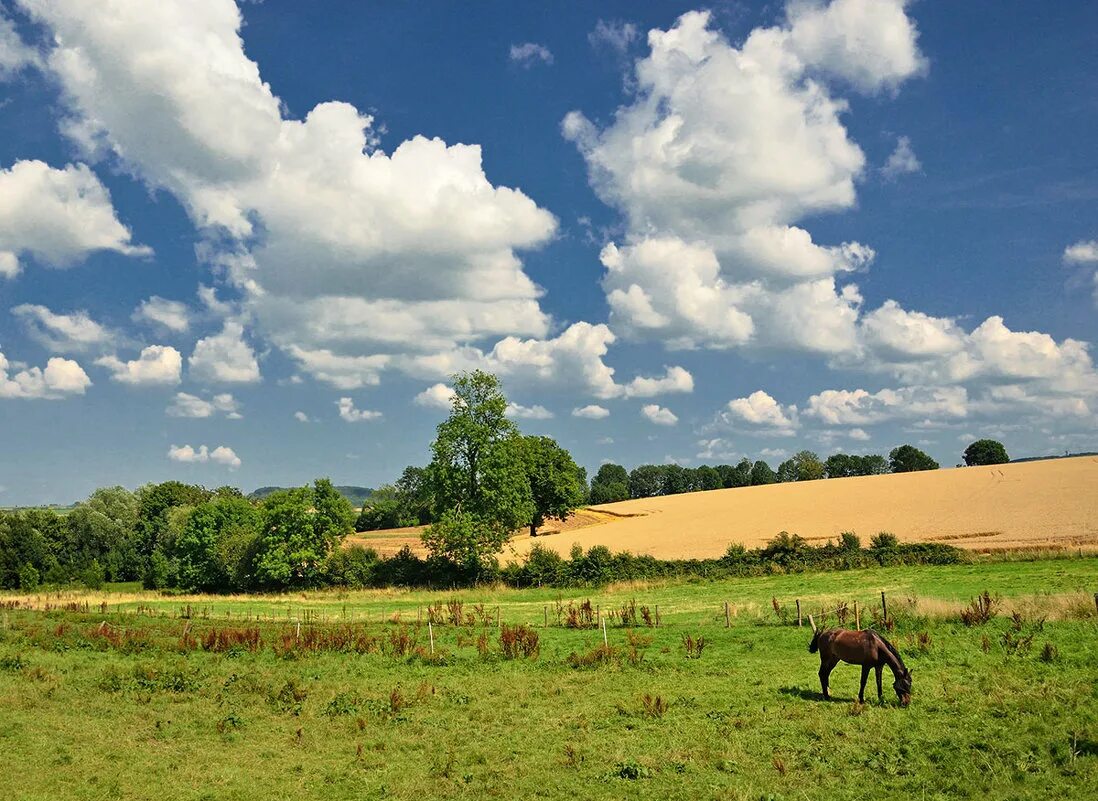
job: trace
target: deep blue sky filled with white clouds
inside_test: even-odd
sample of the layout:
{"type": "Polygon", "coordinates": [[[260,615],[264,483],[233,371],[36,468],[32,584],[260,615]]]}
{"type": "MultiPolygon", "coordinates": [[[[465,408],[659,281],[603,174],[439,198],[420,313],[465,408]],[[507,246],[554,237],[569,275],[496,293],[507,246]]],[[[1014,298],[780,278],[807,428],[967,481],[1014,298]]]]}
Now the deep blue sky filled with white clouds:
{"type": "Polygon", "coordinates": [[[0,0],[0,505],[1098,449],[1098,5],[0,0]]]}

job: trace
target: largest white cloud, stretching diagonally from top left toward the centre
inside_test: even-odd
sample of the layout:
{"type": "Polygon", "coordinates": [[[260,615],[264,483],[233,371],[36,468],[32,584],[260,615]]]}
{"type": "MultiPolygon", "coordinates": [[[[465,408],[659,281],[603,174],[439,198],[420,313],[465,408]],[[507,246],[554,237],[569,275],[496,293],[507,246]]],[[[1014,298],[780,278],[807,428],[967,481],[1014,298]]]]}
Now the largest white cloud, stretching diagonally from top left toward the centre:
{"type": "Polygon", "coordinates": [[[432,353],[548,331],[516,252],[557,221],[493,185],[479,146],[414,136],[386,153],[372,117],[341,102],[284,119],[232,0],[20,3],[55,35],[64,131],[227,242],[209,257],[279,347],[432,353]]]}

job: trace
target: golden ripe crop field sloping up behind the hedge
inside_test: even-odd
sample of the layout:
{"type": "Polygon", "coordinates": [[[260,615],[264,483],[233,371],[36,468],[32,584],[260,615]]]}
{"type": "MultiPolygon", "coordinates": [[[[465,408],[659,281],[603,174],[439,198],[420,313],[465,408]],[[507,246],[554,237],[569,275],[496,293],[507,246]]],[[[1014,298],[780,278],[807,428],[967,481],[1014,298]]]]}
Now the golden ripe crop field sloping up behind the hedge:
{"type": "Polygon", "coordinates": [[[572,543],[662,559],[719,556],[778,531],[821,542],[854,531],[973,550],[1098,545],[1098,458],[1055,459],[671,495],[593,507],[605,521],[531,539],[567,555],[572,543]],[[608,512],[608,514],[607,514],[608,512]],[[618,517],[630,516],[630,517],[618,517]]]}

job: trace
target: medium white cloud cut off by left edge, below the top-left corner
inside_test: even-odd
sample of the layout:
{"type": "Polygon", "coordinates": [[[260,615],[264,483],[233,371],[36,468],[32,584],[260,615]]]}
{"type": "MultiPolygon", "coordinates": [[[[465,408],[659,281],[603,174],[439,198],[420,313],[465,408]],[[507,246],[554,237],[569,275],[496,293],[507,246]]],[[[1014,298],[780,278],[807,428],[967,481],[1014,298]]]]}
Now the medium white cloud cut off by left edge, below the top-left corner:
{"type": "Polygon", "coordinates": [[[18,274],[26,253],[64,268],[96,250],[152,252],[131,244],[110,193],[87,166],[16,161],[0,170],[0,277],[18,274]]]}

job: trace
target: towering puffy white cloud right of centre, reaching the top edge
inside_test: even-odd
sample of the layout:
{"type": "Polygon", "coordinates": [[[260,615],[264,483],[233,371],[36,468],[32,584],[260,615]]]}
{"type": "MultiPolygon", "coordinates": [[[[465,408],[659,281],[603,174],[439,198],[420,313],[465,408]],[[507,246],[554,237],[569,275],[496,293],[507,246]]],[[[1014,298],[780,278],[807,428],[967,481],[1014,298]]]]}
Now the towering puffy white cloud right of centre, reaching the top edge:
{"type": "Polygon", "coordinates": [[[615,330],[671,348],[856,347],[861,296],[838,277],[875,253],[795,223],[850,207],[865,158],[844,102],[810,76],[876,91],[922,61],[901,2],[792,3],[787,18],[737,48],[708,13],[683,14],[649,33],[636,100],[612,125],[564,117],[592,187],[627,221],[628,241],[602,253],[615,330]]]}

